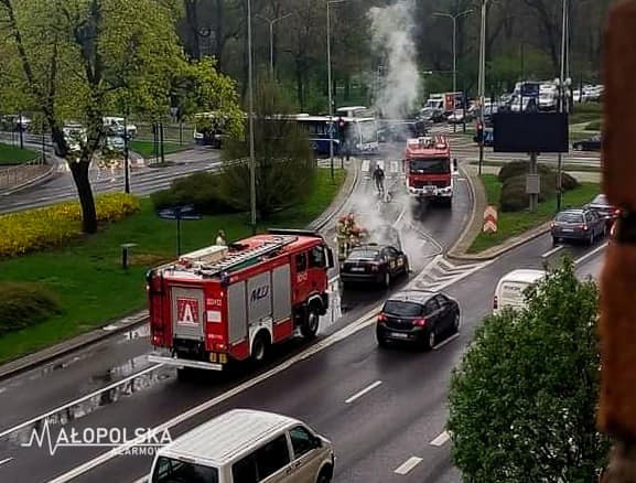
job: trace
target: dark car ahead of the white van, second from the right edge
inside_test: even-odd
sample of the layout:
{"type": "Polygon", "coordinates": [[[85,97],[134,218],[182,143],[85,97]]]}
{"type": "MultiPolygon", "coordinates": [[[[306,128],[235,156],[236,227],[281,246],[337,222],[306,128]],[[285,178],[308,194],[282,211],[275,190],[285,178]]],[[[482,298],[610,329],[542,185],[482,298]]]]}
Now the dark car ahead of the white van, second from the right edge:
{"type": "Polygon", "coordinates": [[[607,233],[605,218],[590,208],[564,210],[557,214],[550,226],[552,243],[559,240],[580,240],[592,245],[607,233]]]}

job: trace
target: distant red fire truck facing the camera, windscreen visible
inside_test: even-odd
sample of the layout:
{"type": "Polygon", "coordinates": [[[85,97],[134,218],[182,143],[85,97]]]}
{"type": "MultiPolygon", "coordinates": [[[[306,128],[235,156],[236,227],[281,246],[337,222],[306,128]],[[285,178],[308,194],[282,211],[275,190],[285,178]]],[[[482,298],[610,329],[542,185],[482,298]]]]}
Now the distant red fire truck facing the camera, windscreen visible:
{"type": "Polygon", "coordinates": [[[445,136],[408,139],[403,173],[409,195],[452,204],[451,147],[445,136]]]}

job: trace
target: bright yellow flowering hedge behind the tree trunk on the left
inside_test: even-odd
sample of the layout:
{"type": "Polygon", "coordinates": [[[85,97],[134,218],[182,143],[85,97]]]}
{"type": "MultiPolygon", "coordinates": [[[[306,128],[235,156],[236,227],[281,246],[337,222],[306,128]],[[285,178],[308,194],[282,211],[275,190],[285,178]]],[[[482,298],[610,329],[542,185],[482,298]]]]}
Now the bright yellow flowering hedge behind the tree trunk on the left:
{"type": "MultiPolygon", "coordinates": [[[[125,193],[96,196],[99,223],[117,222],[139,210],[139,198],[125,193]]],[[[82,235],[79,202],[0,216],[0,258],[56,247],[82,235]]]]}

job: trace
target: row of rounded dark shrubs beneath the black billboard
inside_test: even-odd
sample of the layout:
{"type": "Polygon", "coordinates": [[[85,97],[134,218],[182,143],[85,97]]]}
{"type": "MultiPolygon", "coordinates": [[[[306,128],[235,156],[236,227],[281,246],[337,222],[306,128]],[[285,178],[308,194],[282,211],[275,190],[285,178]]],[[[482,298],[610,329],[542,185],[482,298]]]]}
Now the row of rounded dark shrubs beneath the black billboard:
{"type": "MultiPolygon", "coordinates": [[[[499,210],[518,212],[528,207],[529,196],[526,193],[526,175],[529,172],[528,161],[513,161],[499,171],[498,179],[503,183],[499,194],[499,210]]],[[[541,179],[539,202],[554,196],[557,193],[557,172],[546,164],[538,164],[541,179]]],[[[568,173],[561,173],[561,186],[564,191],[575,189],[579,182],[568,173]]]]}

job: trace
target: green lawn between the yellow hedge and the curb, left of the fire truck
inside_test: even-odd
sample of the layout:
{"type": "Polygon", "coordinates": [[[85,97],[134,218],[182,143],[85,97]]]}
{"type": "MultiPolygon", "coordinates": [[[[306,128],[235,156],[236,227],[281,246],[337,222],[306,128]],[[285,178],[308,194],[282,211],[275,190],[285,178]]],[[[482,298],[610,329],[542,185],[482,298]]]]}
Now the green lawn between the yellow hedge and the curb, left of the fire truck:
{"type": "MultiPolygon", "coordinates": [[[[316,186],[308,200],[281,212],[267,226],[301,228],[331,204],[344,181],[336,171],[317,170],[316,186]]],[[[251,234],[247,214],[204,217],[182,223],[182,253],[214,243],[218,229],[229,240],[251,234]]],[[[63,313],[37,325],[0,337],[0,362],[55,344],[145,308],[145,271],[173,259],[176,251],[174,222],[159,219],[149,198],[136,215],[64,248],[0,262],[0,280],[41,282],[58,298],[63,313]],[[120,245],[134,243],[132,266],[121,268],[120,245]]]]}

